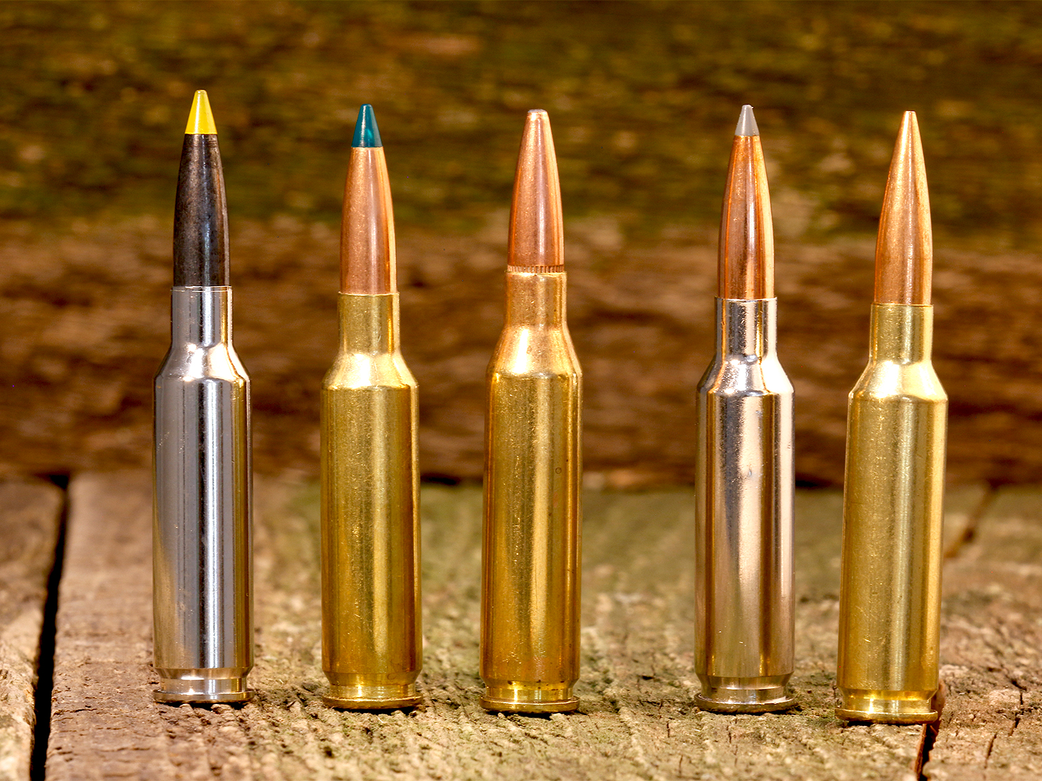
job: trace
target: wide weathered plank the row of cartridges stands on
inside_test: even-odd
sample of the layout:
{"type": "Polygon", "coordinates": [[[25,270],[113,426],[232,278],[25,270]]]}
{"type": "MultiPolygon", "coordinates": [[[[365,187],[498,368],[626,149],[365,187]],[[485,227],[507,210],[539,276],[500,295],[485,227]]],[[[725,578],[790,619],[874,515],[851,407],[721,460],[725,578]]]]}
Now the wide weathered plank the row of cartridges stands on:
{"type": "MultiPolygon", "coordinates": [[[[949,498],[952,540],[982,496],[949,498]]],[[[578,713],[547,717],[477,705],[476,488],[424,489],[424,707],[391,713],[333,711],[319,699],[313,483],[257,484],[257,699],[239,708],[151,701],[147,477],[86,475],[70,501],[48,778],[915,778],[921,728],[833,717],[836,493],[798,497],[802,707],[761,716],[693,706],[693,508],[684,490],[587,495],[582,702],[578,713]]]]}

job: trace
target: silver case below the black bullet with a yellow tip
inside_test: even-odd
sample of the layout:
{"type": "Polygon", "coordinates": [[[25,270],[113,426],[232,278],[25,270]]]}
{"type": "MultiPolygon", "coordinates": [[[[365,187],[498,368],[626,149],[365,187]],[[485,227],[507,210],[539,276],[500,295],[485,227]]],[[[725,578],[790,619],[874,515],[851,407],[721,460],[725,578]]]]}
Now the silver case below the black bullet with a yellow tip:
{"type": "Polygon", "coordinates": [[[250,382],[231,288],[177,286],[155,378],[155,669],[165,702],[249,697],[253,666],[250,382]]]}

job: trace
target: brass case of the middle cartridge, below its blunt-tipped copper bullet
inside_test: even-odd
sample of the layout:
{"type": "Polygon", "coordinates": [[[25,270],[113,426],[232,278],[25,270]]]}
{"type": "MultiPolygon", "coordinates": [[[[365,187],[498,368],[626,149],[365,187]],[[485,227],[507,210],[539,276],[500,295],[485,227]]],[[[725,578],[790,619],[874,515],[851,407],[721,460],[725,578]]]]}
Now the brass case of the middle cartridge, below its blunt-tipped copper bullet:
{"type": "Polygon", "coordinates": [[[578,704],[582,375],[565,278],[507,271],[489,366],[480,675],[490,710],[578,704]]]}

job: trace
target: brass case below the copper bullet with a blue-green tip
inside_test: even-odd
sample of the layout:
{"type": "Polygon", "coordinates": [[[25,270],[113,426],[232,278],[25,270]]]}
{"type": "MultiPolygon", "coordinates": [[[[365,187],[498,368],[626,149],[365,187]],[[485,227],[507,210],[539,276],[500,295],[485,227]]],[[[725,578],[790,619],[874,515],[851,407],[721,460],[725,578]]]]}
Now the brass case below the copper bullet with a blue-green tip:
{"type": "Polygon", "coordinates": [[[398,294],[340,294],[322,385],[322,669],[328,705],[417,705],[422,659],[417,386],[398,294]]]}

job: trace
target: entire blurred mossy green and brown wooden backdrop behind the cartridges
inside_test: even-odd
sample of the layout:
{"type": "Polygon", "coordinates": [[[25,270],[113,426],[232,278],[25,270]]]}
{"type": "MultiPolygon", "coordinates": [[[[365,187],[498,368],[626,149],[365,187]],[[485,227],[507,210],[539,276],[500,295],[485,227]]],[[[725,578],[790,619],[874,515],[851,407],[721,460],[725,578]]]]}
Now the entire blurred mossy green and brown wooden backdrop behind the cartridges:
{"type": "Polygon", "coordinates": [[[873,231],[919,112],[953,482],[1038,481],[1042,8],[1020,3],[0,3],[0,474],[141,467],[174,183],[209,91],[256,464],[315,473],[357,105],[387,145],[422,469],[480,475],[524,111],[550,111],[592,485],[692,479],[730,132],[752,103],[797,472],[842,480],[873,231]]]}

